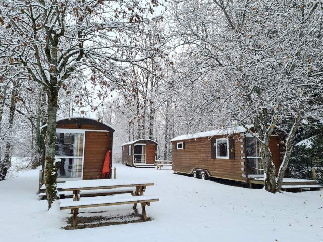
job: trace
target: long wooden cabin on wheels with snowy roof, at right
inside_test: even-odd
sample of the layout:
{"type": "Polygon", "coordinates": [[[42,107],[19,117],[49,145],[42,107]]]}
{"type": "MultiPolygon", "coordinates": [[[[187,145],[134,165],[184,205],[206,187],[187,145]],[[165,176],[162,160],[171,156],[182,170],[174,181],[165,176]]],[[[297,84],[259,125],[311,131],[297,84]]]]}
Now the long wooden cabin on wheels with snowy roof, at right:
{"type": "MultiPolygon", "coordinates": [[[[175,173],[244,183],[264,176],[258,140],[243,127],[182,135],[171,142],[175,173]]],[[[281,149],[279,136],[273,135],[270,150],[276,175],[282,161],[281,149]]]]}

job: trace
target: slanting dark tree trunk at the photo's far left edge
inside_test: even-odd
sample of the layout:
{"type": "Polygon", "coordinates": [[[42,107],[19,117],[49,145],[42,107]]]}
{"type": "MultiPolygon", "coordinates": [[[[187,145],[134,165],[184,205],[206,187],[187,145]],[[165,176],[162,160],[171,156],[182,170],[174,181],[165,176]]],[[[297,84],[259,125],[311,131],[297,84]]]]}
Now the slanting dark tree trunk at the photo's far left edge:
{"type": "MultiPolygon", "coordinates": [[[[12,126],[14,124],[14,117],[16,111],[16,97],[18,95],[18,81],[14,80],[12,84],[11,99],[10,99],[10,111],[8,132],[12,132],[12,126]]],[[[11,138],[9,137],[6,143],[5,155],[0,163],[0,180],[4,180],[7,175],[7,171],[11,166],[11,138]]]]}

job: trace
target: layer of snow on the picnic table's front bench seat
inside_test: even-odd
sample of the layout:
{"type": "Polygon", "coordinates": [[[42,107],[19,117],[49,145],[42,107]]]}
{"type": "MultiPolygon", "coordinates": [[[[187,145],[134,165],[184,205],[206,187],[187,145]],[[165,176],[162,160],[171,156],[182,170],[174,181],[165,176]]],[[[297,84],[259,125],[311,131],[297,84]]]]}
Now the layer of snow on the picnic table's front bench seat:
{"type": "Polygon", "coordinates": [[[157,196],[102,196],[95,198],[82,198],[80,201],[67,201],[62,199],[60,207],[71,207],[71,206],[84,206],[93,204],[104,204],[104,203],[123,203],[123,202],[135,202],[139,200],[156,200],[159,199],[157,196]]]}

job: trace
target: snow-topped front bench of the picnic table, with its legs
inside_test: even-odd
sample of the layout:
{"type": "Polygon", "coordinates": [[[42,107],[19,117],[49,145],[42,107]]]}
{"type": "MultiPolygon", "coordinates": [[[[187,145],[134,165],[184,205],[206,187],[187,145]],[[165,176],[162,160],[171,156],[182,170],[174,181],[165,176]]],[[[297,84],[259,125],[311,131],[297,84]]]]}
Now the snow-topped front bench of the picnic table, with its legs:
{"type": "Polygon", "coordinates": [[[158,202],[159,199],[153,196],[133,196],[133,197],[124,197],[124,198],[94,198],[86,199],[84,201],[62,201],[60,204],[60,209],[71,209],[73,210],[73,229],[77,226],[77,214],[80,208],[92,208],[92,207],[102,207],[102,206],[113,206],[121,204],[134,204],[135,208],[137,203],[141,204],[142,209],[142,219],[146,220],[146,208],[145,206],[150,206],[151,202],[158,202]]]}

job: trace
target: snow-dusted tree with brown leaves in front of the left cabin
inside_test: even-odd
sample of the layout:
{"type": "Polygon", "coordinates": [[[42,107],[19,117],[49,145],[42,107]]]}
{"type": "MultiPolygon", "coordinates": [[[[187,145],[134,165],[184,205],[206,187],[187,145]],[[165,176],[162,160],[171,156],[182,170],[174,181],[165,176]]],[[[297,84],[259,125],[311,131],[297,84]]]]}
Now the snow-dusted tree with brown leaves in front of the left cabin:
{"type": "MultiPolygon", "coordinates": [[[[140,51],[140,46],[123,43],[121,34],[136,36],[153,13],[157,1],[31,0],[0,3],[1,51],[10,64],[23,68],[22,77],[41,84],[47,94],[47,131],[45,138],[45,185],[48,208],[57,198],[55,129],[60,89],[74,75],[90,73],[92,85],[109,88],[119,82],[124,51],[140,51]],[[5,30],[4,30],[5,29],[5,30]]],[[[152,48],[147,49],[153,55],[152,48]]],[[[147,57],[149,58],[149,57],[147,57]]],[[[10,65],[4,62],[2,65],[10,65]]],[[[100,91],[103,95],[104,91],[100,91]]]]}

